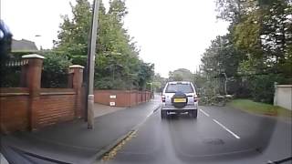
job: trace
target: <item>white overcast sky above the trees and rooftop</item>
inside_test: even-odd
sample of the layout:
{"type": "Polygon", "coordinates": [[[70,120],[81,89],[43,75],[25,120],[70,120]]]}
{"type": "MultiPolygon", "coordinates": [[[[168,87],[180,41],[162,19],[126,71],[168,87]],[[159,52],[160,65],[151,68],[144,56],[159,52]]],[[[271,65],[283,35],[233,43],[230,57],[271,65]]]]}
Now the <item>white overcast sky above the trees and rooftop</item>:
{"type": "MultiPolygon", "coordinates": [[[[1,19],[16,39],[51,48],[60,15],[71,13],[70,1],[75,2],[1,0],[1,19]]],[[[108,6],[108,0],[103,2],[108,6]]],[[[154,63],[155,71],[163,77],[181,67],[194,71],[211,40],[227,32],[228,24],[215,18],[214,0],[127,0],[126,5],[129,15],[125,27],[141,47],[141,58],[154,63]]]]}

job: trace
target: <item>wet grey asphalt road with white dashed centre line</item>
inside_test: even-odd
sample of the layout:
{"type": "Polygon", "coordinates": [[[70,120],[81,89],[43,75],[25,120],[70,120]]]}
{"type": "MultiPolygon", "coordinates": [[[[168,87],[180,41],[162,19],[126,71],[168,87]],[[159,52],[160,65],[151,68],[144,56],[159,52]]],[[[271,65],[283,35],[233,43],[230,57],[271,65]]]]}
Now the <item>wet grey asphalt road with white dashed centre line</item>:
{"type": "Polygon", "coordinates": [[[254,164],[292,156],[291,124],[274,118],[233,108],[200,107],[197,119],[162,120],[159,111],[113,159],[100,163],[254,164]]]}

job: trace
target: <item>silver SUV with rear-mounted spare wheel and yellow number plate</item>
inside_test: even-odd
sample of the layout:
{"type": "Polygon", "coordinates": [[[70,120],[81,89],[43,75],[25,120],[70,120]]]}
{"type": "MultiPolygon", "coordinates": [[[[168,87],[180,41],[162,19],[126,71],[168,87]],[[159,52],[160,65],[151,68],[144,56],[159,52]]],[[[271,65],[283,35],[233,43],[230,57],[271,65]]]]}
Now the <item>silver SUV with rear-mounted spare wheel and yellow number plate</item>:
{"type": "Polygon", "coordinates": [[[162,91],[161,116],[167,118],[171,114],[188,114],[197,118],[198,97],[192,82],[168,82],[162,91]]]}

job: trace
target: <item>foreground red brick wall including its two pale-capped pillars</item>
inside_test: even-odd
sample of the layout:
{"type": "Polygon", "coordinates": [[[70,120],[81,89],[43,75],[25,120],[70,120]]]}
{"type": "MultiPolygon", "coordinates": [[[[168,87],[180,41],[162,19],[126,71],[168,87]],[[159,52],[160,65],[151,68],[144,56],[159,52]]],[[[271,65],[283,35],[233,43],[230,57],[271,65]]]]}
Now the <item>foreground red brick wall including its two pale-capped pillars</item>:
{"type": "Polygon", "coordinates": [[[1,133],[36,130],[84,114],[83,68],[68,69],[68,87],[41,88],[43,56],[22,56],[21,87],[0,88],[1,133]]]}

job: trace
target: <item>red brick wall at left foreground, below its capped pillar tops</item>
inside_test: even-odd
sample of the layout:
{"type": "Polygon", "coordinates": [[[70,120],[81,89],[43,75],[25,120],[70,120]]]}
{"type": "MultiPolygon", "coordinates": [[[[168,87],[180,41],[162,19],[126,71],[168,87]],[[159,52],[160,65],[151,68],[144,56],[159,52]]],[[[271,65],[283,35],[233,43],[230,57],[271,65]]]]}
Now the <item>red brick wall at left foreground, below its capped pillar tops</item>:
{"type": "MultiPolygon", "coordinates": [[[[82,92],[83,93],[83,92],[82,92]]],[[[31,99],[28,88],[11,87],[0,90],[1,132],[9,133],[31,128],[43,128],[59,122],[83,117],[81,95],[74,88],[41,88],[39,97],[31,99]],[[33,101],[35,118],[29,105],[33,101]]]]}

